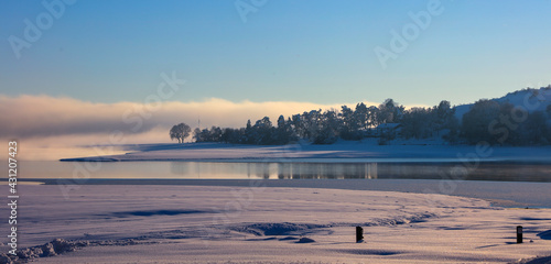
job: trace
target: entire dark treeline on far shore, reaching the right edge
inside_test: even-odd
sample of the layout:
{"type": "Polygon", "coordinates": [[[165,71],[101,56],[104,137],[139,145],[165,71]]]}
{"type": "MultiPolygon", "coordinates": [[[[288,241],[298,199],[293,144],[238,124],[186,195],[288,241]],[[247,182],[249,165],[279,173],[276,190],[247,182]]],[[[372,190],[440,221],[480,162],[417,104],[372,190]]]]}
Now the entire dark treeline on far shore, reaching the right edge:
{"type": "Polygon", "coordinates": [[[284,118],[276,124],[268,117],[245,128],[195,129],[196,142],[280,145],[306,140],[332,144],[338,139],[377,138],[379,144],[393,139],[441,138],[451,144],[480,141],[505,145],[547,145],[551,142],[551,107],[547,111],[522,111],[510,103],[479,100],[457,120],[455,108],[441,101],[432,108],[411,108],[387,99],[378,107],[358,103],[354,109],[312,110],[284,118]]]}

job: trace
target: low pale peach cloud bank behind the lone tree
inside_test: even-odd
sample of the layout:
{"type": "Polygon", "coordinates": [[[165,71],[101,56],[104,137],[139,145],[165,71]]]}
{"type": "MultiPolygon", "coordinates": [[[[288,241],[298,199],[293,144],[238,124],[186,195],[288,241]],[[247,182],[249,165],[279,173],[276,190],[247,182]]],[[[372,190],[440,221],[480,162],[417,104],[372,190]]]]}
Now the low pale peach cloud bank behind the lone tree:
{"type": "Polygon", "coordinates": [[[238,128],[245,127],[248,119],[255,122],[270,117],[276,121],[280,114],[287,118],[312,109],[339,109],[341,106],[294,101],[231,102],[217,98],[161,105],[94,103],[50,96],[0,96],[0,138],[46,140],[66,136],[65,142],[74,143],[68,136],[77,136],[86,141],[77,142],[86,144],[96,135],[115,132],[137,142],[165,142],[169,139],[166,131],[179,122],[196,128],[201,119],[202,128],[238,128]]]}

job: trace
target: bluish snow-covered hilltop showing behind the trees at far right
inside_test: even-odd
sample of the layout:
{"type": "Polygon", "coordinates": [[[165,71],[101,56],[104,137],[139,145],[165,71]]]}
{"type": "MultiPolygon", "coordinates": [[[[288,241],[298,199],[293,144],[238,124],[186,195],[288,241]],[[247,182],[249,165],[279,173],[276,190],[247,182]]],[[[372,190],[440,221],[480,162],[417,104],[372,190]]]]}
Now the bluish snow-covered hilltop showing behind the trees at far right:
{"type": "MultiPolygon", "coordinates": [[[[494,98],[490,100],[497,101],[499,103],[509,102],[512,106],[522,107],[523,109],[528,110],[528,112],[544,112],[551,105],[551,85],[548,87],[541,87],[539,89],[526,88],[522,90],[517,90],[514,92],[509,92],[504,97],[494,98]]],[[[474,102],[455,107],[455,117],[460,120],[460,122],[463,118],[463,114],[468,112],[473,105],[474,102]]]]}

